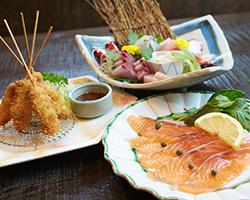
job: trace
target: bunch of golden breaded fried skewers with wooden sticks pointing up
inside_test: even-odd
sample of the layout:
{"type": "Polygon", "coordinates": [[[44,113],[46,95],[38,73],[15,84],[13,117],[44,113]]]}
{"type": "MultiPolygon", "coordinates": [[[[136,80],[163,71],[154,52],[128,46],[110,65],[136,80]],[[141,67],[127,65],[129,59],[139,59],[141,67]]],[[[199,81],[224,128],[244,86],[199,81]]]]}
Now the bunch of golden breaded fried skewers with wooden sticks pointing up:
{"type": "MultiPolygon", "coordinates": [[[[21,16],[26,46],[29,48],[25,21],[22,13],[21,16]]],[[[4,20],[11,39],[18,52],[18,56],[2,37],[0,37],[0,39],[21,64],[21,66],[24,67],[27,74],[22,80],[16,81],[15,84],[12,83],[8,86],[6,95],[3,97],[3,102],[0,104],[0,125],[4,125],[8,121],[13,120],[13,126],[16,128],[16,130],[22,131],[24,128],[30,125],[32,116],[34,115],[39,117],[44,134],[53,135],[60,130],[60,119],[69,119],[72,117],[72,113],[71,110],[66,106],[65,100],[63,96],[61,96],[60,92],[53,86],[46,84],[40,72],[34,71],[33,65],[40,55],[52,31],[52,27],[50,27],[39,50],[36,53],[36,56],[33,58],[38,16],[39,11],[37,11],[36,14],[31,51],[28,50],[29,66],[24,60],[24,57],[8,25],[7,20],[4,20]]]]}

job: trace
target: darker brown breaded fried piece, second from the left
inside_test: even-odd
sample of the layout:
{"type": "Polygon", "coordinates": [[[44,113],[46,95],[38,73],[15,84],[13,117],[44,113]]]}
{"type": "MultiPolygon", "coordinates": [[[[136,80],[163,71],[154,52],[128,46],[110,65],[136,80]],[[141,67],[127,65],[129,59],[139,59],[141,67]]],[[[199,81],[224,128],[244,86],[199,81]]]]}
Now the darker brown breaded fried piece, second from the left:
{"type": "Polygon", "coordinates": [[[28,127],[31,122],[32,110],[28,97],[31,88],[32,83],[27,78],[16,81],[16,90],[10,107],[10,116],[13,119],[13,126],[18,131],[22,131],[28,127]]]}

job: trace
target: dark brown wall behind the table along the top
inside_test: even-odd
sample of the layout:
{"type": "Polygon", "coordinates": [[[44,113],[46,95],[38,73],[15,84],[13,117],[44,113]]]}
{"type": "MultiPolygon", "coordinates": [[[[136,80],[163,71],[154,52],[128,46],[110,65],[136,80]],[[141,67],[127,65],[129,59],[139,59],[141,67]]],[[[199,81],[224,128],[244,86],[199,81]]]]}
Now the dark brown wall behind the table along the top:
{"type": "MultiPolygon", "coordinates": [[[[250,11],[250,0],[159,0],[167,19],[250,11]]],[[[39,32],[50,25],[56,30],[103,26],[105,23],[85,0],[1,0],[0,34],[6,35],[2,19],[8,19],[15,34],[22,34],[19,12],[24,12],[32,32],[35,11],[40,10],[39,32]]]]}

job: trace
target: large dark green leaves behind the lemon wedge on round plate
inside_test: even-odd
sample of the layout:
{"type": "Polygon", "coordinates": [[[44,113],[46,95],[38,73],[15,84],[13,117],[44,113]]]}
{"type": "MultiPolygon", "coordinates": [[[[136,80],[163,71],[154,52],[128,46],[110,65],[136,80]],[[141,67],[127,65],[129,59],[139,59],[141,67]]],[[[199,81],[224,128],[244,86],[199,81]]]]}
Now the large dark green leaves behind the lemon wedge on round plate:
{"type": "Polygon", "coordinates": [[[244,129],[250,131],[250,100],[243,98],[245,93],[239,90],[224,90],[215,92],[208,102],[199,109],[191,109],[183,113],[174,113],[169,117],[184,121],[192,126],[200,116],[211,113],[226,113],[237,119],[244,129]]]}

